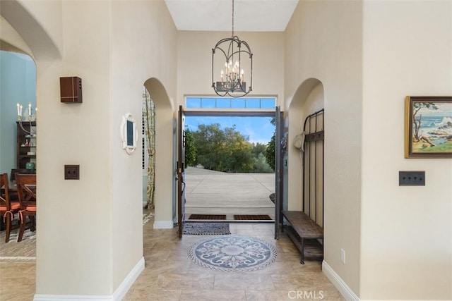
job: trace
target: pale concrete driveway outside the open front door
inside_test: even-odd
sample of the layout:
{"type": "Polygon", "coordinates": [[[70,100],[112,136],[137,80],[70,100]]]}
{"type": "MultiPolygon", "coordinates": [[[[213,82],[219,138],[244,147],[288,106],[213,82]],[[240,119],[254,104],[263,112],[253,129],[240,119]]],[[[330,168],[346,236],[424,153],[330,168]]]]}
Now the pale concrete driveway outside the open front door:
{"type": "Polygon", "coordinates": [[[222,173],[189,167],[185,171],[185,216],[190,214],[267,214],[275,217],[274,173],[222,173]]]}

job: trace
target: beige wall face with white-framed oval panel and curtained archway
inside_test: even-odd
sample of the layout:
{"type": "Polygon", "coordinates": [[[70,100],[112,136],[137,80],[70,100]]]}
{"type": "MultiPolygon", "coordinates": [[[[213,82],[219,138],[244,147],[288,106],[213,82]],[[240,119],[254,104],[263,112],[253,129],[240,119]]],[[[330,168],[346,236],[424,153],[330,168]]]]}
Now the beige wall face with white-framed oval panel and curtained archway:
{"type": "MultiPolygon", "coordinates": [[[[112,253],[114,288],[124,280],[136,259],[143,256],[142,233],[142,173],[141,148],[136,154],[127,155],[117,134],[121,116],[130,112],[135,116],[138,127],[141,126],[143,85],[148,79],[158,81],[160,85],[148,85],[153,96],[156,116],[156,146],[166,143],[168,147],[159,147],[155,156],[159,164],[155,171],[155,214],[156,220],[172,221],[172,154],[166,150],[172,147],[167,137],[172,133],[167,126],[172,116],[169,97],[176,92],[177,63],[174,61],[177,48],[177,32],[172,18],[163,1],[112,1],[112,253]],[[140,20],[131,22],[131,20],[140,20]],[[131,34],[141,33],[141,34],[131,34]],[[170,111],[171,113],[167,113],[170,111]],[[165,118],[166,116],[166,118],[165,118]],[[163,166],[162,166],[163,165],[163,166]],[[139,202],[138,202],[139,200],[139,202]],[[168,202],[169,201],[169,202],[168,202]],[[163,205],[163,206],[162,206],[163,205]],[[130,211],[124,211],[130,207],[130,211]],[[120,221],[120,222],[118,222],[120,221]],[[130,223],[130,225],[128,225],[130,223]],[[133,230],[132,230],[133,229],[133,230]],[[124,245],[133,246],[124,247],[124,245]]],[[[139,144],[138,140],[138,144],[139,144]]],[[[172,225],[172,223],[171,223],[172,225]]]]}

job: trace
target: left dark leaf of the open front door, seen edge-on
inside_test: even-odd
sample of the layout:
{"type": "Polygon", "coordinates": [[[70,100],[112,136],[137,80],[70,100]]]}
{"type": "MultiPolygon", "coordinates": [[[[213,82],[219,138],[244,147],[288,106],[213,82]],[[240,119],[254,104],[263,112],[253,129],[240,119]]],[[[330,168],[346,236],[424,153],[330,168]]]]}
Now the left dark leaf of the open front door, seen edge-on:
{"type": "Polygon", "coordinates": [[[185,116],[184,109],[179,106],[179,118],[177,121],[177,225],[179,226],[179,238],[182,238],[182,230],[185,221],[185,116]]]}

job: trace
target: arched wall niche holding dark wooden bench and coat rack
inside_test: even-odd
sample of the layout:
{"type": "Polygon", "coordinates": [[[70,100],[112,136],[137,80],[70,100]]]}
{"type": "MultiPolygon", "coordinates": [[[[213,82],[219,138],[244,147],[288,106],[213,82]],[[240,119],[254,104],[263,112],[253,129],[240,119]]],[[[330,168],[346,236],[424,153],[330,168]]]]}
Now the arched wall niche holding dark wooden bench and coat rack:
{"type": "Polygon", "coordinates": [[[300,85],[289,106],[287,234],[304,257],[323,259],[323,84],[300,85]],[[303,231],[309,228],[309,239],[303,231]]]}

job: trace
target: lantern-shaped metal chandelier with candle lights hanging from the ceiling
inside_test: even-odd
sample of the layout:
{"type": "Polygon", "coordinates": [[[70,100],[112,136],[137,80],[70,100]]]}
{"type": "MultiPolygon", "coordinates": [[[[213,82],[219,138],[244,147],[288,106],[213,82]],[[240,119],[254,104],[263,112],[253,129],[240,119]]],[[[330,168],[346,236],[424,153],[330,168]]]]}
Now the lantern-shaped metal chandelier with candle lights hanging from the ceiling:
{"type": "Polygon", "coordinates": [[[248,43],[234,35],[234,0],[232,0],[232,35],[220,39],[212,49],[212,87],[221,97],[226,95],[244,97],[251,92],[252,82],[253,54],[248,43]],[[215,53],[220,55],[215,57],[215,53]],[[248,90],[246,90],[245,74],[246,76],[249,74],[248,90]],[[220,81],[215,82],[214,75],[220,75],[220,81]]]}

